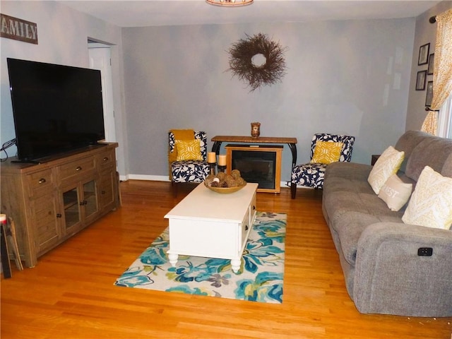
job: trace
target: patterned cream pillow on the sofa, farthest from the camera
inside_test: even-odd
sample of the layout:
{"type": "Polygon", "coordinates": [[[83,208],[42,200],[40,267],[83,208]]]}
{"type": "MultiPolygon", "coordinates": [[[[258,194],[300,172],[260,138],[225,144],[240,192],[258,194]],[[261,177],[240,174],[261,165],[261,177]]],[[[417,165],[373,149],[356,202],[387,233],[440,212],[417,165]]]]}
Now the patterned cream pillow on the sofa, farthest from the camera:
{"type": "Polygon", "coordinates": [[[388,181],[389,177],[397,173],[404,157],[405,152],[399,152],[393,146],[389,146],[376,160],[367,178],[367,182],[369,182],[375,194],[379,194],[381,187],[388,181]]]}

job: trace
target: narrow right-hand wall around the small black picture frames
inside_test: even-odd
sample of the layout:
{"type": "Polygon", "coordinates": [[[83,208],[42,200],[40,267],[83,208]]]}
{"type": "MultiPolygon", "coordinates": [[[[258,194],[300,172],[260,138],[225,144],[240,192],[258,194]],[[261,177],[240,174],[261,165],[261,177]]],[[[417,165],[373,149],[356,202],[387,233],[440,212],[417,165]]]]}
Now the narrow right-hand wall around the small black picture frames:
{"type": "MultiPolygon", "coordinates": [[[[411,83],[410,83],[410,97],[408,100],[408,114],[406,129],[407,130],[419,130],[422,127],[422,122],[427,115],[425,112],[425,96],[427,90],[415,90],[416,78],[418,71],[427,70],[428,65],[417,65],[419,58],[419,49],[424,44],[430,44],[430,54],[434,53],[436,42],[436,23],[429,23],[431,16],[443,13],[452,8],[452,1],[442,1],[438,5],[430,8],[429,11],[422,13],[422,15],[416,18],[416,32],[415,32],[415,48],[412,52],[412,67],[411,67],[411,83]]],[[[433,76],[427,76],[427,82],[433,81],[433,76]]]]}

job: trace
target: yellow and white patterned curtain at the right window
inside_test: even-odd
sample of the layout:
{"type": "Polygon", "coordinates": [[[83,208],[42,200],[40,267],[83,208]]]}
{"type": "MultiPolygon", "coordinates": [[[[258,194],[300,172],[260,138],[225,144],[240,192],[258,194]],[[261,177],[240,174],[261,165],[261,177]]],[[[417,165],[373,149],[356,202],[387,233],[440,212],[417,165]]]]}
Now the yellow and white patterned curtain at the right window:
{"type": "MultiPolygon", "coordinates": [[[[431,109],[439,110],[452,92],[452,9],[436,16],[436,44],[431,109]]],[[[436,135],[438,112],[430,111],[421,131],[436,135]]]]}

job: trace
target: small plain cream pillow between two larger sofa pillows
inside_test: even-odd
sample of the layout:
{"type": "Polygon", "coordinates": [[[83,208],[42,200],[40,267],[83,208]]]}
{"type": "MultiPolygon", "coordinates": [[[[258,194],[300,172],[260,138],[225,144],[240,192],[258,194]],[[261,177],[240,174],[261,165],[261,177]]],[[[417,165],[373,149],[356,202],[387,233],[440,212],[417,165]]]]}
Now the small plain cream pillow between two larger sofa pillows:
{"type": "Polygon", "coordinates": [[[380,189],[381,198],[391,210],[400,210],[410,198],[412,184],[405,184],[397,174],[391,175],[380,189]]]}

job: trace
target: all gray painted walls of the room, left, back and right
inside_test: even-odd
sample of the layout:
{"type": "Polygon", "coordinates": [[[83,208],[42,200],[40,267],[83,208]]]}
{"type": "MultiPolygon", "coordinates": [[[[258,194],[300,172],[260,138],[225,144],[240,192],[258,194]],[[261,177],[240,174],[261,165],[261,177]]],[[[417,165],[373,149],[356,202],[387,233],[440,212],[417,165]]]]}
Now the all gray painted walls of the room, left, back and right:
{"type": "MultiPolygon", "coordinates": [[[[112,44],[124,179],[165,179],[169,129],[205,129],[210,148],[212,136],[249,135],[251,121],[261,121],[262,136],[298,138],[298,162],[308,160],[312,134],[328,131],[356,136],[352,160],[369,163],[405,129],[420,129],[425,93],[414,90],[417,54],[421,44],[434,44],[429,16],[451,3],[416,19],[121,30],[53,1],[1,1],[1,13],[37,23],[39,37],[38,45],[1,38],[1,143],[15,136],[6,57],[87,67],[90,37],[112,44]],[[287,74],[283,83],[249,93],[226,71],[226,51],[258,32],[288,48],[287,74]]],[[[283,180],[290,160],[286,146],[283,180]]]]}

